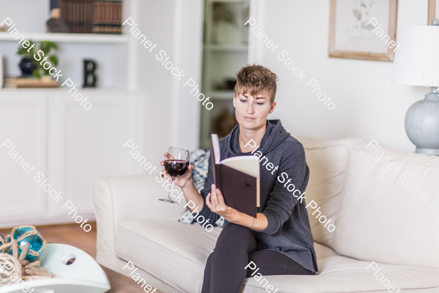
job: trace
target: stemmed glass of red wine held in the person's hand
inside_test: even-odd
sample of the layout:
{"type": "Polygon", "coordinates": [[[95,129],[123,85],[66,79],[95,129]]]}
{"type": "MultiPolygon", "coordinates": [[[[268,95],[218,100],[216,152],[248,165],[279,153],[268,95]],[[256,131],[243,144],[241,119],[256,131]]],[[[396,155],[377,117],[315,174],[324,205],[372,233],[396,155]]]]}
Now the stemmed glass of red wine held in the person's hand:
{"type": "Polygon", "coordinates": [[[179,204],[171,199],[171,191],[174,187],[174,181],[176,178],[184,175],[189,167],[189,151],[178,147],[171,146],[166,153],[166,159],[164,160],[164,167],[166,172],[171,176],[171,190],[169,190],[168,198],[159,199],[166,203],[179,204]]]}

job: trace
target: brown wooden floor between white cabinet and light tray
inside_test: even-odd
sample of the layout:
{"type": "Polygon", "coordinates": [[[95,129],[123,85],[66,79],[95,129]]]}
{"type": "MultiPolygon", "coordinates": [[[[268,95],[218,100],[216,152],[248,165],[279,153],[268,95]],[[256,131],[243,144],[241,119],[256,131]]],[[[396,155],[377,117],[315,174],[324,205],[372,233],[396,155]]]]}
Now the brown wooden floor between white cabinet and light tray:
{"type": "MultiPolygon", "coordinates": [[[[96,222],[89,223],[92,229],[85,232],[80,224],[37,226],[46,242],[68,244],[79,248],[96,258],[96,222]]],[[[9,235],[12,229],[1,229],[0,234],[9,235]]]]}

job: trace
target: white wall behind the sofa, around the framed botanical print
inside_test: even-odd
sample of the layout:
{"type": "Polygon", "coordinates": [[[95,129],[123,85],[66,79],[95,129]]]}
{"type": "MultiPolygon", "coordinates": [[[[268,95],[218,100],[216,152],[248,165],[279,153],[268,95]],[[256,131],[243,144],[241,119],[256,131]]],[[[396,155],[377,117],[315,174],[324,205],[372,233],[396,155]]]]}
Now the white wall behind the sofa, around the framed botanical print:
{"type": "MultiPolygon", "coordinates": [[[[428,0],[399,0],[397,25],[426,25],[428,0]]],[[[424,98],[429,87],[390,84],[393,63],[328,57],[329,0],[256,0],[254,17],[279,47],[272,53],[251,40],[252,63],[279,77],[278,107],[269,119],[280,119],[292,133],[315,138],[359,137],[380,145],[415,151],[404,128],[407,109],[424,98]],[[300,82],[277,54],[286,50],[307,75],[300,82]],[[336,104],[329,110],[305,84],[314,78],[336,104]]],[[[255,30],[256,31],[256,30],[255,30]]],[[[398,31],[397,31],[398,32],[398,31]]]]}

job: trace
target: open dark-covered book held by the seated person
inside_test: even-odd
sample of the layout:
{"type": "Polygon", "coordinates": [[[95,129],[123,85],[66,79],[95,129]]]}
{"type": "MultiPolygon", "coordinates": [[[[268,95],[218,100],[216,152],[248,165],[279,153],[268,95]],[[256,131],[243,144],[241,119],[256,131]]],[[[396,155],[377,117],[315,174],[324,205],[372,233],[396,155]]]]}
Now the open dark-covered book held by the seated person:
{"type": "Polygon", "coordinates": [[[259,160],[236,156],[220,161],[218,134],[210,135],[210,154],[215,185],[227,206],[256,218],[259,207],[259,160]]]}

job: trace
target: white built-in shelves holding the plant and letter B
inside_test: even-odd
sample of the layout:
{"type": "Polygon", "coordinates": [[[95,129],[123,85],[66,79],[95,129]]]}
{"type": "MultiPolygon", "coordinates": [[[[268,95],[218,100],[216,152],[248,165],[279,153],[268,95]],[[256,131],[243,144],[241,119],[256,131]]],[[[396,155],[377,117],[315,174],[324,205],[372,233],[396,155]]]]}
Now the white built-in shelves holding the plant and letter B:
{"type": "MultiPolygon", "coordinates": [[[[138,2],[139,0],[123,1],[122,21],[126,20],[128,16],[138,19],[138,2]]],[[[24,36],[25,41],[57,43],[59,50],[55,54],[58,55],[59,65],[55,67],[62,70],[63,78],[68,77],[75,84],[81,86],[83,60],[89,59],[95,61],[98,66],[98,90],[136,90],[138,88],[135,77],[138,65],[135,57],[138,43],[128,32],[129,27],[122,26],[122,34],[47,33],[44,31],[48,15],[43,13],[43,9],[40,9],[39,14],[29,14],[28,19],[24,22],[20,21],[19,18],[20,5],[23,3],[17,0],[5,8],[10,13],[13,23],[16,23],[13,29],[17,29],[19,34],[24,36]],[[44,24],[43,27],[41,27],[41,23],[44,24]]],[[[30,9],[37,10],[37,6],[31,5],[30,9]]],[[[8,27],[6,27],[7,29],[8,27]]],[[[21,57],[16,54],[21,37],[17,40],[16,38],[17,36],[11,36],[10,32],[0,32],[0,53],[3,55],[6,68],[4,74],[9,76],[21,74],[18,65],[21,57]]]]}

